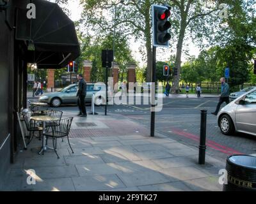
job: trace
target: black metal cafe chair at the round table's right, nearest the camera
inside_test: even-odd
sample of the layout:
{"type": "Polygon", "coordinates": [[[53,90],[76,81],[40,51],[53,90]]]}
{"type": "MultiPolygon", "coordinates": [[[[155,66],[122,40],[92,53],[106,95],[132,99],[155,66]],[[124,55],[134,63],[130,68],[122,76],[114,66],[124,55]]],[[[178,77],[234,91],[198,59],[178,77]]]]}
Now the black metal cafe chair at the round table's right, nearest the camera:
{"type": "Polygon", "coordinates": [[[74,119],[73,117],[69,117],[67,119],[61,119],[59,126],[52,126],[52,128],[49,128],[48,131],[44,133],[44,136],[46,138],[48,138],[48,137],[52,138],[53,149],[54,149],[58,159],[60,159],[60,157],[59,157],[59,155],[57,153],[57,150],[56,150],[56,147],[57,147],[56,139],[57,138],[63,138],[63,137],[67,136],[68,145],[69,145],[70,149],[72,150],[72,153],[74,153],[74,151],[73,151],[73,149],[70,145],[69,138],[68,138],[69,131],[70,131],[73,119],[74,119]]]}

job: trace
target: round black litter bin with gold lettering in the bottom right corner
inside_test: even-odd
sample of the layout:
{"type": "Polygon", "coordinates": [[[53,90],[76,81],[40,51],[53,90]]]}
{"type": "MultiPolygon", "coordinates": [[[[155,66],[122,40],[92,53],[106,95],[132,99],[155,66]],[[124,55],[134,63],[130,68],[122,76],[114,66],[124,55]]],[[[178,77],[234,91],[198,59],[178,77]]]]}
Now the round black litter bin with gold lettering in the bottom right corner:
{"type": "Polygon", "coordinates": [[[233,155],[227,157],[227,184],[223,191],[256,191],[256,157],[233,155]]]}

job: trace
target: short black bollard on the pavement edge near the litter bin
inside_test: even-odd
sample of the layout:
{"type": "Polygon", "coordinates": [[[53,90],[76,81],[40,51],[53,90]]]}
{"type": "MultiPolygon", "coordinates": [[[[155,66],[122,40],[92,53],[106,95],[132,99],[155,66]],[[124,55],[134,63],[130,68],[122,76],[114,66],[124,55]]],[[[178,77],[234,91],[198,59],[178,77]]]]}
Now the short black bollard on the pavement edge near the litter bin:
{"type": "Polygon", "coordinates": [[[201,110],[200,145],[199,145],[198,164],[205,164],[206,119],[207,119],[207,110],[201,110]]]}

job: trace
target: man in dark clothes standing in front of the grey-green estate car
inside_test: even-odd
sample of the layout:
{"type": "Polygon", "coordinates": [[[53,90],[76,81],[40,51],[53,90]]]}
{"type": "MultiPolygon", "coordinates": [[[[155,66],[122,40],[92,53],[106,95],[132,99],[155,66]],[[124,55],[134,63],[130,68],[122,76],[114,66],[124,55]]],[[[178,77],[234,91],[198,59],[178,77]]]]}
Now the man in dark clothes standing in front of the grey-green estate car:
{"type": "Polygon", "coordinates": [[[77,105],[79,107],[79,113],[78,115],[81,115],[82,117],[86,117],[86,107],[85,107],[85,97],[86,97],[86,82],[83,79],[83,75],[77,75],[78,82],[78,88],[77,88],[77,105]]]}

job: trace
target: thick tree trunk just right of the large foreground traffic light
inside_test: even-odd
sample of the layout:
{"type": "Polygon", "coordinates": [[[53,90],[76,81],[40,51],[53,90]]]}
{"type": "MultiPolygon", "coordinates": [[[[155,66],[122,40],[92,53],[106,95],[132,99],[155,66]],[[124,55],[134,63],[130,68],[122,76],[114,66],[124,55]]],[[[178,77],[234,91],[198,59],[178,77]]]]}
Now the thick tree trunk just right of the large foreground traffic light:
{"type": "Polygon", "coordinates": [[[173,94],[179,93],[181,54],[182,54],[182,46],[183,46],[185,31],[186,31],[186,18],[182,19],[182,22],[180,24],[180,31],[179,31],[180,34],[179,34],[179,40],[177,43],[177,53],[176,53],[176,59],[175,59],[175,68],[177,68],[178,75],[174,76],[174,80],[173,80],[174,84],[172,89],[173,94]]]}

